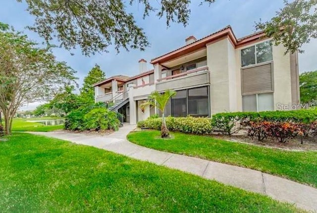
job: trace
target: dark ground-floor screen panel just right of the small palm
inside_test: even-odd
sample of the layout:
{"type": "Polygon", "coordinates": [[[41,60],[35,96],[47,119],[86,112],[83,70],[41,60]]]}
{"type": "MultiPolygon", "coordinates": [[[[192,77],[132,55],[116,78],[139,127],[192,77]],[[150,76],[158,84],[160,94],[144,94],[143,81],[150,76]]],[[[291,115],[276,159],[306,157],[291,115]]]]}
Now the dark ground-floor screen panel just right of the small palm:
{"type": "Polygon", "coordinates": [[[179,90],[171,98],[171,115],[174,117],[187,116],[187,90],[179,90]]]}

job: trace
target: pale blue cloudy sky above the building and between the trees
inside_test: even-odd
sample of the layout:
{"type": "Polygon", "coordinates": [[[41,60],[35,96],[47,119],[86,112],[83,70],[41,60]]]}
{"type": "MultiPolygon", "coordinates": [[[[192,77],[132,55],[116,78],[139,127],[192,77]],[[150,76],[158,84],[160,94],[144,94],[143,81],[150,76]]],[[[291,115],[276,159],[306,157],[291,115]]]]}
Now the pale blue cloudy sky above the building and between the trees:
{"type": "MultiPolygon", "coordinates": [[[[192,35],[200,39],[227,25],[231,25],[237,38],[252,34],[255,32],[256,21],[269,20],[274,16],[275,11],[283,7],[283,0],[216,0],[211,5],[205,3],[201,6],[199,5],[201,0],[192,0],[188,25],[184,27],[182,24],[172,23],[167,28],[165,19],[159,19],[155,13],[151,13],[150,17],[143,19],[143,5],[139,4],[138,0],[134,1],[132,6],[126,4],[127,10],[134,14],[137,24],[144,29],[148,37],[150,46],[145,51],[122,49],[117,53],[113,46],[110,46],[108,53],[97,53],[87,57],[82,55],[79,48],[71,51],[63,48],[53,49],[57,60],[66,61],[77,71],[79,85],[82,84],[84,77],[95,64],[101,66],[106,77],[137,75],[139,73],[138,61],[141,58],[150,62],[152,58],[183,46],[185,39],[192,35]]],[[[16,0],[0,0],[0,2],[1,22],[13,26],[16,30],[23,31],[31,40],[38,43],[44,41],[36,33],[25,28],[34,24],[34,17],[26,11],[25,2],[17,2],[16,0]]],[[[159,1],[153,0],[153,2],[154,6],[159,6],[159,1]]],[[[303,46],[305,53],[299,55],[300,73],[317,70],[316,47],[316,39],[303,46]]],[[[153,66],[148,63],[148,69],[152,68],[153,66]]],[[[21,107],[21,110],[31,110],[37,105],[39,103],[30,103],[21,107]]]]}

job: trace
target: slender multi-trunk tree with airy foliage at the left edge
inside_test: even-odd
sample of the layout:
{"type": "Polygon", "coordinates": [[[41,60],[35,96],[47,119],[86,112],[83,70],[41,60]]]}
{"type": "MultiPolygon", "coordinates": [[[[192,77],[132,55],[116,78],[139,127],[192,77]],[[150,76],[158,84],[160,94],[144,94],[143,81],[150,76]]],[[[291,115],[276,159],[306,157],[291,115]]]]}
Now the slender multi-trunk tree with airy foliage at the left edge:
{"type": "Polygon", "coordinates": [[[20,106],[52,98],[62,85],[76,79],[74,73],[65,62],[55,60],[50,48],[37,47],[20,32],[0,30],[0,109],[5,134],[11,133],[20,106]]]}

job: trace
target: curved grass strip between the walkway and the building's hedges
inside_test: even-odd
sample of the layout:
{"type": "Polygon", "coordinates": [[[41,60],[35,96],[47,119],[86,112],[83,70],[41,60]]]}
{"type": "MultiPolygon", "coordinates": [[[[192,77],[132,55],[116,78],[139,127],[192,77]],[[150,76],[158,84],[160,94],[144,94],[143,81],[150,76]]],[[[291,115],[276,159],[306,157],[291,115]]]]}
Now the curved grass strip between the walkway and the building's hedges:
{"type": "Polygon", "coordinates": [[[317,152],[284,151],[173,132],[160,139],[159,131],[131,132],[128,139],[141,146],[225,164],[260,170],[317,187],[317,152]]]}

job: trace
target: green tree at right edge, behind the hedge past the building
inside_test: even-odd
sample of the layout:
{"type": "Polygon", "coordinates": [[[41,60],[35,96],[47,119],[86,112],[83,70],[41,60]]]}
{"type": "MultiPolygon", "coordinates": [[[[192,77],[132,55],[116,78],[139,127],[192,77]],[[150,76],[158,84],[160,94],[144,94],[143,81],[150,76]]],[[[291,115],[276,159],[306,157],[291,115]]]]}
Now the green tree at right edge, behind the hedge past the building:
{"type": "Polygon", "coordinates": [[[317,101],[317,71],[302,73],[299,76],[302,103],[317,101]]]}

